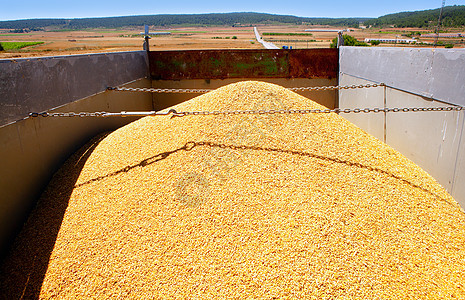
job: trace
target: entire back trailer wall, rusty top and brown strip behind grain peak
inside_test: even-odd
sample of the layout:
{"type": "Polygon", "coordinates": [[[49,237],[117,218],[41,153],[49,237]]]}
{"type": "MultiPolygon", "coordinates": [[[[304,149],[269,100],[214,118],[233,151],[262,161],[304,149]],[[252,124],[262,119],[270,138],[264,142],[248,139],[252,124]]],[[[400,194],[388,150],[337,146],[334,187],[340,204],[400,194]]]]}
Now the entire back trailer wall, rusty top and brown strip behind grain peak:
{"type": "MultiPolygon", "coordinates": [[[[337,49],[189,50],[150,52],[153,88],[216,89],[242,80],[260,80],[284,87],[337,85],[337,49]]],[[[299,92],[329,108],[337,92],[299,92]]],[[[199,94],[156,94],[162,109],[199,94]]]]}

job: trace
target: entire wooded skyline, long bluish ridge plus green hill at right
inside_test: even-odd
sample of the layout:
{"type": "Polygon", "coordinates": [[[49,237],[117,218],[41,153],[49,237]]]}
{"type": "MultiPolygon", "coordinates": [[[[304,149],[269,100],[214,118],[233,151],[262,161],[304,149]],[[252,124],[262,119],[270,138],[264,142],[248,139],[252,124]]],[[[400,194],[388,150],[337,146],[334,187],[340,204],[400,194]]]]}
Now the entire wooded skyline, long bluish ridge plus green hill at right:
{"type": "MultiPolygon", "coordinates": [[[[50,27],[61,30],[85,28],[121,28],[153,25],[157,27],[176,25],[195,26],[250,26],[257,24],[305,24],[355,27],[360,23],[365,26],[395,26],[431,28],[437,25],[439,8],[415,12],[401,12],[379,18],[305,18],[289,15],[274,15],[254,12],[179,14],[179,15],[145,15],[82,19],[29,19],[0,21],[0,28],[11,30],[43,30],[50,27]]],[[[442,27],[465,26],[465,5],[444,7],[442,27]]]]}

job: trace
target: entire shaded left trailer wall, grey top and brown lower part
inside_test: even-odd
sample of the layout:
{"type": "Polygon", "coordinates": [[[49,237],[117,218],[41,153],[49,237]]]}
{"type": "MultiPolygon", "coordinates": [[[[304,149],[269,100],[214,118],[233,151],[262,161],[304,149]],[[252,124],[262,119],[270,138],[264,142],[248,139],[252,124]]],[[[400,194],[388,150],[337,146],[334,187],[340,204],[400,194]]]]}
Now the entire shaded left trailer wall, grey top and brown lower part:
{"type": "Polygon", "coordinates": [[[127,82],[149,87],[147,76],[144,51],[0,60],[0,254],[69,155],[95,135],[134,120],[28,113],[151,110],[150,94],[106,91],[127,82]]]}

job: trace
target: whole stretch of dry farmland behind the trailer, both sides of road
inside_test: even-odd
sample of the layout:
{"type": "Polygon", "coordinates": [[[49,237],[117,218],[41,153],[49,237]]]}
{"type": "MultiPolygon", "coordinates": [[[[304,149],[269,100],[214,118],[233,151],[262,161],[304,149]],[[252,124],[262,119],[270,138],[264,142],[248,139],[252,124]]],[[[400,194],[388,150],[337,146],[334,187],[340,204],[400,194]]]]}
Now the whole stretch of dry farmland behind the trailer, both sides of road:
{"type": "MultiPolygon", "coordinates": [[[[334,32],[312,32],[305,34],[305,29],[336,29],[323,26],[307,25],[262,25],[257,26],[262,37],[276,46],[292,46],[293,49],[328,48],[336,37],[334,32]]],[[[10,33],[0,29],[0,43],[38,43],[0,51],[2,58],[19,58],[34,56],[55,56],[101,52],[119,52],[142,50],[143,36],[139,33],[142,27],[119,29],[87,29],[76,31],[32,31],[27,33],[10,33]]],[[[192,49],[261,49],[262,45],[255,40],[253,27],[175,27],[150,28],[150,32],[170,32],[170,35],[153,36],[150,40],[151,50],[192,50],[192,49]]],[[[359,41],[365,38],[406,38],[405,34],[431,31],[416,28],[402,29],[352,29],[350,34],[359,41]]],[[[454,31],[451,31],[454,32],[454,31]]],[[[456,32],[463,32],[456,30],[456,32]]],[[[455,48],[463,48],[463,39],[442,39],[443,44],[454,43],[455,48]]],[[[432,43],[434,38],[421,39],[432,43]]],[[[403,44],[381,44],[383,46],[409,46],[403,44]]],[[[419,45],[416,45],[419,46],[419,45]]],[[[429,46],[431,47],[431,46],[429,46]]]]}

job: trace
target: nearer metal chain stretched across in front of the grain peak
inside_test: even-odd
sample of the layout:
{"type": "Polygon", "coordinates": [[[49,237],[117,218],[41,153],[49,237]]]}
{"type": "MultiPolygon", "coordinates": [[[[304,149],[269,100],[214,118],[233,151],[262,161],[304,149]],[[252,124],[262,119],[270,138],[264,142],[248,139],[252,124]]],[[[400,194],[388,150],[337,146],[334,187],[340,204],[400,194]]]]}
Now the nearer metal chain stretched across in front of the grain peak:
{"type": "Polygon", "coordinates": [[[166,112],[142,111],[142,112],[127,112],[119,113],[112,112],[66,112],[66,113],[30,113],[30,117],[145,117],[145,116],[167,116],[185,117],[185,116],[208,116],[208,115],[264,115],[264,114],[319,114],[319,113],[388,113],[388,112],[433,112],[433,111],[462,111],[463,106],[448,106],[448,107],[394,107],[394,108],[335,108],[335,109],[260,109],[260,110],[214,110],[214,111],[184,111],[177,112],[170,109],[166,112]]]}

